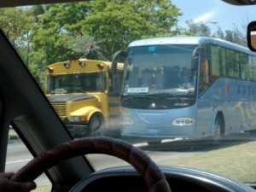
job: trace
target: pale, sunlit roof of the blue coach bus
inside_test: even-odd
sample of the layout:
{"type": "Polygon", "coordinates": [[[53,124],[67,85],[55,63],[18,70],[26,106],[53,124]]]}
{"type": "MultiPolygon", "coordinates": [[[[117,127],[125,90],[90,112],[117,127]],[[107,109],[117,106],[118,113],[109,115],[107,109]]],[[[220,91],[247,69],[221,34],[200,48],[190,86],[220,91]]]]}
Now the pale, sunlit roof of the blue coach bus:
{"type": "Polygon", "coordinates": [[[208,38],[208,37],[189,37],[189,36],[174,36],[169,38],[148,38],[133,41],[128,47],[146,46],[146,45],[158,45],[158,44],[216,44],[228,49],[234,49],[250,55],[256,55],[253,51],[247,47],[239,44],[234,44],[229,41],[220,38],[208,38]]]}

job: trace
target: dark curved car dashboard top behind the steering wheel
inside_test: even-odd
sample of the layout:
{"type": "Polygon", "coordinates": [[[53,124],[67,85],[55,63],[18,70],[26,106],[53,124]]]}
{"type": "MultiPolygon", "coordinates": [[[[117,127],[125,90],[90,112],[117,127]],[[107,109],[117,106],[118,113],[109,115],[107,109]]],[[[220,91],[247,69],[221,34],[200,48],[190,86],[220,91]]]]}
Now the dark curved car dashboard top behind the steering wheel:
{"type": "MultiPolygon", "coordinates": [[[[160,167],[166,176],[172,192],[232,192],[255,191],[245,183],[212,172],[184,167],[160,167]]],[[[85,177],[71,191],[148,191],[148,187],[137,171],[131,166],[115,167],[95,172],[85,177]]]]}

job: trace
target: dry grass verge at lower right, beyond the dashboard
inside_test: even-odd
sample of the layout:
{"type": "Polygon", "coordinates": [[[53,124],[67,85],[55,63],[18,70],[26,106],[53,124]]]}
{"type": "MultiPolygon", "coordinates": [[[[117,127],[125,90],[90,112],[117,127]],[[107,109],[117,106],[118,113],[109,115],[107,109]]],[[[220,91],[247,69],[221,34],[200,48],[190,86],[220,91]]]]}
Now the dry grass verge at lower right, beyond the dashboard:
{"type": "Polygon", "coordinates": [[[161,166],[186,166],[218,172],[242,182],[256,181],[256,142],[220,148],[178,160],[158,162],[161,166]]]}

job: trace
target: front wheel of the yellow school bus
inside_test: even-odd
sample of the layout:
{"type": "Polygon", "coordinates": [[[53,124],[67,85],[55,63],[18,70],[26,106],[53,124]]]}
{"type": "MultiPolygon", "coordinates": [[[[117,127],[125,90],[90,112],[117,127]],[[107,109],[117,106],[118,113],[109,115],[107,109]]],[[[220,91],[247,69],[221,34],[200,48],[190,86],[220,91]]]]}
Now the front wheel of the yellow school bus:
{"type": "Polygon", "coordinates": [[[88,136],[97,137],[102,136],[102,129],[104,127],[104,120],[100,115],[93,115],[90,118],[89,127],[88,127],[88,136]]]}

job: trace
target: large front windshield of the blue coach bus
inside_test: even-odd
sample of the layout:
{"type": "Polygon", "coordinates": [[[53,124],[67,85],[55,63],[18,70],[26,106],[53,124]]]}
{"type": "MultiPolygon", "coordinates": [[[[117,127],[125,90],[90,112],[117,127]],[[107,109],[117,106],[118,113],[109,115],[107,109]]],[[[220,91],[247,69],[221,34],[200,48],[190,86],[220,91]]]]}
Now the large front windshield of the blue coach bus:
{"type": "Polygon", "coordinates": [[[195,44],[130,47],[125,65],[124,95],[195,95],[195,44]]]}

